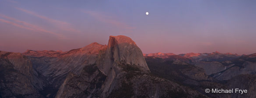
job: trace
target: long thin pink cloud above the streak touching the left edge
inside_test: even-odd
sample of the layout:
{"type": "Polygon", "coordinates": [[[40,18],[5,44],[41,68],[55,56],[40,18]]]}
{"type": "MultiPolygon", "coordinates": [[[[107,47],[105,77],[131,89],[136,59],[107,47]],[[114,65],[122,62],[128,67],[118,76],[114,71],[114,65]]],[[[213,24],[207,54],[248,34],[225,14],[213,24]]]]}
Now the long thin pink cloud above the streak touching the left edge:
{"type": "Polygon", "coordinates": [[[35,12],[29,11],[29,10],[25,10],[25,9],[22,9],[22,8],[18,8],[18,7],[15,7],[15,8],[17,10],[21,10],[21,11],[23,11],[25,13],[28,13],[28,14],[31,14],[31,15],[36,16],[38,18],[41,18],[43,20],[46,20],[46,21],[54,24],[55,26],[57,26],[57,28],[59,28],[61,30],[80,33],[79,30],[72,28],[70,23],[67,23],[67,22],[64,22],[64,21],[60,21],[60,20],[55,20],[55,19],[52,19],[52,18],[49,18],[49,17],[46,17],[46,16],[42,16],[42,15],[39,15],[39,14],[37,14],[35,12]]]}

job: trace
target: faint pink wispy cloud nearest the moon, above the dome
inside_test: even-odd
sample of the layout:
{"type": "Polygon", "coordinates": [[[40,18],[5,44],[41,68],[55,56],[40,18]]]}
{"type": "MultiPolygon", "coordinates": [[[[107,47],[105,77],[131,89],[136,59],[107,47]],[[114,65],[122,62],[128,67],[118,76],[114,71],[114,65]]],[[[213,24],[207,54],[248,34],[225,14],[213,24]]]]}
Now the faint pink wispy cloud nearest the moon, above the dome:
{"type": "Polygon", "coordinates": [[[134,29],[135,28],[135,27],[128,26],[126,23],[122,23],[118,20],[113,19],[112,16],[107,16],[100,12],[96,12],[96,11],[82,11],[82,12],[95,17],[97,20],[99,20],[101,22],[108,23],[108,24],[111,24],[116,27],[120,27],[120,28],[124,28],[124,29],[134,29]]]}

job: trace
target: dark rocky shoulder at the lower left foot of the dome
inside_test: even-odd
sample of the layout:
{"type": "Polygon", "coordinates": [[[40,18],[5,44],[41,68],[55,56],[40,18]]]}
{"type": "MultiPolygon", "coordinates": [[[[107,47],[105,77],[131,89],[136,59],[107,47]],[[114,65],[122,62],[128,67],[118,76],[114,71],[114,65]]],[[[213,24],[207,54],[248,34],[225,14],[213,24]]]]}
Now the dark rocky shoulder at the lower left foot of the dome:
{"type": "Polygon", "coordinates": [[[57,92],[56,98],[101,97],[106,75],[96,65],[85,66],[81,74],[70,73],[57,92]]]}

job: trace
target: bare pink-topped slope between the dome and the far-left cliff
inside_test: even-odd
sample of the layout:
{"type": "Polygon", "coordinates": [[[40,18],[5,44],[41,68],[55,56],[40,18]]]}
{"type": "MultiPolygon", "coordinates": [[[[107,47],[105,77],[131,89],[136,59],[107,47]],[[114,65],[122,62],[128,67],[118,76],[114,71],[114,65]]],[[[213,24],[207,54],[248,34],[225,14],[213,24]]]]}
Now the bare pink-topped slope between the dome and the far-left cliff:
{"type": "Polygon", "coordinates": [[[34,69],[48,82],[42,91],[44,95],[53,97],[68,73],[79,74],[84,66],[95,64],[99,50],[105,47],[94,42],[68,52],[27,50],[22,54],[32,61],[34,69]]]}

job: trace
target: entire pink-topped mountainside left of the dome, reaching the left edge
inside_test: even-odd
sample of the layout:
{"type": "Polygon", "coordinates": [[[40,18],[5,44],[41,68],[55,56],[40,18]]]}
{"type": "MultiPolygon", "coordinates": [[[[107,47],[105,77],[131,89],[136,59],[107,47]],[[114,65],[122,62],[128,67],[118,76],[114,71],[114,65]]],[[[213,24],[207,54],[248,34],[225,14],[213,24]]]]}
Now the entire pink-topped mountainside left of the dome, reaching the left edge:
{"type": "Polygon", "coordinates": [[[70,72],[78,75],[84,66],[95,64],[99,50],[105,47],[94,42],[68,52],[1,52],[0,96],[53,98],[70,72]]]}

